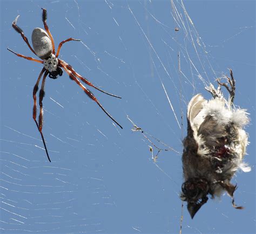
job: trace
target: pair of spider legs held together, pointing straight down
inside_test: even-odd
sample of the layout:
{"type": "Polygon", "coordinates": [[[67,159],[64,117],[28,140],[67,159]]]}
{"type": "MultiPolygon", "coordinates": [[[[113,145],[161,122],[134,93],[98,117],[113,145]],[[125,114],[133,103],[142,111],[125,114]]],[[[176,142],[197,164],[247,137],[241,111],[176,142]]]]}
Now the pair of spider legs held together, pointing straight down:
{"type": "Polygon", "coordinates": [[[37,79],[37,82],[36,82],[36,85],[34,86],[33,88],[33,101],[34,101],[34,104],[33,104],[33,120],[35,120],[36,122],[36,126],[38,128],[38,131],[39,133],[41,134],[41,137],[42,137],[42,140],[43,140],[43,143],[44,143],[44,148],[45,148],[45,152],[46,152],[46,155],[48,157],[48,160],[51,162],[50,160],[50,156],[48,154],[48,150],[47,150],[47,147],[46,147],[46,143],[45,143],[45,140],[44,140],[44,135],[43,135],[43,132],[42,132],[42,127],[43,127],[43,97],[44,97],[44,84],[45,84],[45,79],[48,75],[48,72],[45,72],[45,68],[42,69],[42,71],[40,72],[39,74],[39,77],[37,79]],[[42,81],[42,86],[41,86],[41,90],[40,90],[40,93],[39,93],[39,105],[40,105],[40,114],[39,114],[39,124],[36,120],[36,93],[38,91],[38,85],[39,85],[39,82],[41,80],[41,77],[44,73],[44,77],[43,77],[43,81],[42,81]]]}

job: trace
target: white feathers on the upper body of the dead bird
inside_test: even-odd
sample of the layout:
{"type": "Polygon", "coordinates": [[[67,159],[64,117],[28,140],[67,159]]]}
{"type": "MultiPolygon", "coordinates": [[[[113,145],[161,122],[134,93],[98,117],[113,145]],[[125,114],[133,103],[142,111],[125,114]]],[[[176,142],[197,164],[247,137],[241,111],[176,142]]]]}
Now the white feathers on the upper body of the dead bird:
{"type": "MultiPolygon", "coordinates": [[[[209,88],[212,89],[212,87],[209,88]]],[[[249,122],[248,113],[246,109],[234,108],[233,105],[229,105],[219,90],[215,90],[215,93],[218,94],[217,97],[209,101],[206,101],[201,94],[197,94],[188,104],[187,118],[190,121],[194,139],[198,144],[197,154],[206,157],[211,156],[211,150],[205,146],[204,136],[198,135],[198,129],[206,116],[212,116],[217,124],[214,129],[211,129],[212,134],[208,136],[207,141],[218,139],[221,129],[233,123],[238,131],[238,139],[231,146],[231,151],[236,155],[231,165],[231,170],[235,171],[240,168],[242,171],[248,172],[251,168],[242,162],[248,144],[248,136],[242,127],[249,122]]]]}

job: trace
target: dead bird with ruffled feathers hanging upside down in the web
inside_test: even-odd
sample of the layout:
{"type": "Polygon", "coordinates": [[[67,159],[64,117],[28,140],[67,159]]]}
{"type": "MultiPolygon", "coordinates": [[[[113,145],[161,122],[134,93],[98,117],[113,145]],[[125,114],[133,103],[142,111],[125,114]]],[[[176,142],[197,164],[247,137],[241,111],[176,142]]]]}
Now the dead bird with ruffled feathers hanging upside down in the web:
{"type": "Polygon", "coordinates": [[[180,198],[187,202],[193,218],[207,202],[207,196],[220,196],[224,191],[232,197],[236,185],[230,181],[239,168],[245,172],[250,167],[243,162],[246,154],[247,134],[243,129],[248,123],[245,109],[235,108],[235,80],[226,77],[231,87],[218,80],[217,90],[211,84],[206,90],[213,95],[207,101],[201,94],[195,95],[187,107],[187,136],[182,156],[184,183],[180,198]],[[227,101],[221,86],[230,93],[227,101]]]}

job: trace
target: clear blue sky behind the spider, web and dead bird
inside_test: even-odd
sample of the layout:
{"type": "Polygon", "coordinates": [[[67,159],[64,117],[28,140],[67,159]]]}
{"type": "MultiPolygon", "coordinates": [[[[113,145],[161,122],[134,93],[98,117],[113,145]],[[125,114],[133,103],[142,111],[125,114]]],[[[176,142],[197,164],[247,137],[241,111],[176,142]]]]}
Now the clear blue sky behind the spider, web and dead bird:
{"type": "Polygon", "coordinates": [[[235,104],[251,118],[245,160],[252,171],[233,180],[245,209],[233,209],[225,195],[191,220],[184,206],[183,233],[255,233],[255,1],[184,1],[193,24],[180,1],[174,5],[177,22],[171,1],[1,1],[1,232],[178,233],[186,105],[196,93],[210,98],[203,81],[232,68],[235,104]],[[83,42],[66,43],[60,58],[122,96],[90,88],[124,127],[115,127],[68,75],[48,78],[43,132],[51,163],[32,119],[42,65],[6,50],[33,56],[11,23],[20,15],[30,40],[43,27],[42,7],[56,46],[69,37],[83,42]],[[149,142],[131,131],[126,115],[179,153],[160,152],[154,164],[149,142]]]}

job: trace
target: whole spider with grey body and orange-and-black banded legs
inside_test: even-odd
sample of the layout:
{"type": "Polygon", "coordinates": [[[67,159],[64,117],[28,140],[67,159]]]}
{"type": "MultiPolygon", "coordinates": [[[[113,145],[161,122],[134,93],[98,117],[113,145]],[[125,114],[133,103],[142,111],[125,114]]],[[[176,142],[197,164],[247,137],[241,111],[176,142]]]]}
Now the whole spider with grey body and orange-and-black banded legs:
{"type": "Polygon", "coordinates": [[[23,30],[17,25],[17,20],[18,17],[16,17],[16,19],[14,20],[14,22],[12,22],[12,27],[14,27],[14,29],[22,36],[23,40],[25,41],[25,43],[29,46],[29,49],[36,54],[37,57],[41,58],[42,60],[38,60],[32,57],[27,57],[24,56],[23,54],[19,54],[16,53],[12,50],[10,50],[9,48],[7,48],[7,50],[11,51],[12,53],[16,54],[18,57],[22,57],[31,61],[35,61],[36,63],[41,63],[44,65],[44,67],[42,68],[41,72],[39,73],[39,76],[37,78],[36,81],[36,85],[33,88],[33,120],[35,120],[36,122],[36,126],[39,130],[39,133],[41,134],[42,137],[42,141],[44,143],[44,148],[45,148],[45,152],[46,155],[48,157],[48,160],[51,162],[50,160],[50,156],[46,147],[46,143],[44,140],[44,135],[42,132],[42,128],[43,128],[43,98],[45,95],[44,92],[44,85],[45,85],[45,79],[47,77],[47,75],[49,75],[50,78],[52,79],[57,79],[58,75],[62,75],[63,74],[63,70],[66,73],[68,73],[69,78],[71,80],[74,80],[81,88],[82,90],[89,96],[90,99],[92,99],[93,101],[95,101],[98,106],[106,113],[107,116],[109,116],[109,118],[111,120],[113,120],[120,128],[123,129],[123,127],[116,121],[113,119],[113,117],[103,108],[103,106],[99,103],[99,101],[97,100],[97,98],[95,97],[95,95],[93,95],[93,93],[88,90],[88,88],[86,88],[80,81],[79,79],[84,82],[86,85],[89,85],[93,88],[95,88],[96,90],[103,92],[107,95],[110,95],[112,97],[116,97],[116,98],[121,98],[117,95],[111,94],[111,93],[107,93],[103,90],[101,90],[100,88],[96,87],[95,85],[93,85],[89,80],[87,80],[86,78],[82,77],[82,75],[78,74],[73,68],[72,66],[70,66],[69,64],[67,64],[64,60],[58,59],[59,56],[59,51],[60,48],[62,47],[62,45],[66,42],[70,42],[72,40],[75,41],[80,41],[79,39],[74,39],[74,38],[68,38],[66,40],[63,40],[62,42],[59,43],[58,49],[57,49],[57,53],[55,54],[55,44],[52,38],[52,35],[49,31],[49,27],[46,24],[46,19],[47,19],[47,11],[46,9],[43,9],[43,14],[42,14],[42,20],[44,23],[44,29],[41,29],[39,27],[36,27],[33,32],[32,32],[32,44],[33,44],[33,49],[29,44],[29,40],[28,38],[25,37],[23,30]],[[36,93],[38,91],[38,85],[39,82],[41,80],[43,76],[43,81],[42,81],[42,85],[41,85],[41,90],[39,92],[39,106],[40,106],[40,113],[39,113],[39,118],[38,118],[38,122],[36,120],[36,116],[37,116],[37,106],[36,106],[36,93]]]}

